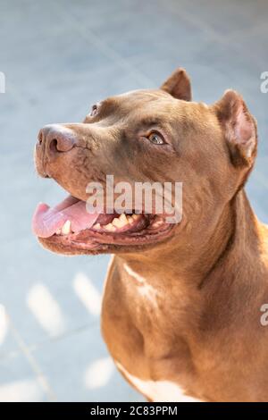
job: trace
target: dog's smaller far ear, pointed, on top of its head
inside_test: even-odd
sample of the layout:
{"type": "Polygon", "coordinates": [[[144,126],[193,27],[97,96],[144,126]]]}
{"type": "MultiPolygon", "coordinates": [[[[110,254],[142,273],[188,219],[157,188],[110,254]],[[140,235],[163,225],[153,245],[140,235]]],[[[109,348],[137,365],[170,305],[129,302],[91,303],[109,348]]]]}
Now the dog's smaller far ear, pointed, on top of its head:
{"type": "Polygon", "coordinates": [[[179,68],[174,71],[169,79],[163,83],[161,89],[177,99],[184,101],[192,100],[191,82],[184,69],[179,68]]]}

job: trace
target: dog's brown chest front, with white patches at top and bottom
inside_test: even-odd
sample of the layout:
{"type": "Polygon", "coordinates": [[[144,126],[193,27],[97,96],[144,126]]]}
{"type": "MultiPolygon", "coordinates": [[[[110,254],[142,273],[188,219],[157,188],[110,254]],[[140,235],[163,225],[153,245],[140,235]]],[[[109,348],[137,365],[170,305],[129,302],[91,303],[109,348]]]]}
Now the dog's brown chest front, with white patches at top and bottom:
{"type": "Polygon", "coordinates": [[[147,399],[192,400],[183,391],[190,382],[191,358],[185,340],[177,336],[180,325],[173,325],[170,290],[129,265],[124,271],[128,277],[108,279],[103,306],[103,333],[116,365],[147,399]]]}

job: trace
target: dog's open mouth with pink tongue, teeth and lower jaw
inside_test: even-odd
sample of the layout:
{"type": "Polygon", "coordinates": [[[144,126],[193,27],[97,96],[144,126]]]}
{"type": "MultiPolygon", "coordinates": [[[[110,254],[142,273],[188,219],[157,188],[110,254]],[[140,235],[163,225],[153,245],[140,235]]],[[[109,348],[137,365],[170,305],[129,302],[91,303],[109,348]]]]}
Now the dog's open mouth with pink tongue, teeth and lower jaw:
{"type": "Polygon", "coordinates": [[[163,214],[137,214],[135,210],[89,214],[86,202],[69,196],[55,207],[39,204],[32,228],[40,242],[63,254],[113,252],[162,241],[173,223],[163,214]]]}

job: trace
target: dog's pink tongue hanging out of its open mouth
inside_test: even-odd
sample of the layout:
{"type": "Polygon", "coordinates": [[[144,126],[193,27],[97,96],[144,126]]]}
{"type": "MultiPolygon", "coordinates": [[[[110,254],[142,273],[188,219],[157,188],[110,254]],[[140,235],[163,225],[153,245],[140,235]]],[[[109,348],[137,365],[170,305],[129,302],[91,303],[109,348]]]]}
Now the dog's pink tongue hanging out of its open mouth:
{"type": "Polygon", "coordinates": [[[74,197],[67,197],[58,206],[50,208],[40,203],[33,215],[32,230],[40,238],[49,238],[70,220],[71,231],[82,231],[91,228],[98,214],[89,214],[86,203],[74,197]]]}

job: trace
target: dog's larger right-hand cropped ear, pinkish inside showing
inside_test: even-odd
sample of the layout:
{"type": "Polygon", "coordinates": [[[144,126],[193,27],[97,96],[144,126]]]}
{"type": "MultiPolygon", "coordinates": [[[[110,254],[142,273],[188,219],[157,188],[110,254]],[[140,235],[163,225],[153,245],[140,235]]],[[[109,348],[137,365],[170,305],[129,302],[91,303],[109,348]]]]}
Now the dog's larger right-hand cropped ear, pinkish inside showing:
{"type": "Polygon", "coordinates": [[[234,90],[227,90],[214,108],[229,145],[232,163],[252,166],[257,149],[257,127],[243,98],[234,90]]]}

